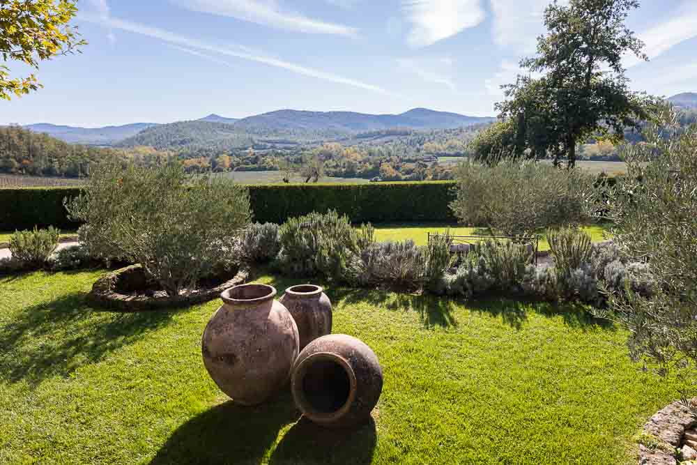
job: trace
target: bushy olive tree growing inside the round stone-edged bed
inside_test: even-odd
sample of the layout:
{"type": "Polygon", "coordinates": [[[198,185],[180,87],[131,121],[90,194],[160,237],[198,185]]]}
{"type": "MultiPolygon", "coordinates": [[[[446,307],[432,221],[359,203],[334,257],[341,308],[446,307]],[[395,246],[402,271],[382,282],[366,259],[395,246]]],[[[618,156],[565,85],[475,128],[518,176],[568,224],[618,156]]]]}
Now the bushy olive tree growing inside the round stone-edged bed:
{"type": "Polygon", "coordinates": [[[194,289],[250,220],[247,190],[229,178],[191,178],[178,164],[102,164],[66,205],[92,254],[143,266],[170,296],[194,289]]]}

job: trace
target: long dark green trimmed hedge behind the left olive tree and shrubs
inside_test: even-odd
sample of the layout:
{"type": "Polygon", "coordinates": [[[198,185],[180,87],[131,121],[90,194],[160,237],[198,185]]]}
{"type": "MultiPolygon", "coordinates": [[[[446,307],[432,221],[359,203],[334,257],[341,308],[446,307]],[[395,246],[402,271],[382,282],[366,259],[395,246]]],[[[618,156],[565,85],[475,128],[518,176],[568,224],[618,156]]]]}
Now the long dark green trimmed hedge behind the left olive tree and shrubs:
{"type": "MultiPolygon", "coordinates": [[[[282,223],[293,216],[334,209],[353,222],[455,222],[452,181],[366,184],[250,185],[254,220],[282,223]]],[[[79,188],[0,189],[0,229],[75,228],[63,199],[79,188]]]]}

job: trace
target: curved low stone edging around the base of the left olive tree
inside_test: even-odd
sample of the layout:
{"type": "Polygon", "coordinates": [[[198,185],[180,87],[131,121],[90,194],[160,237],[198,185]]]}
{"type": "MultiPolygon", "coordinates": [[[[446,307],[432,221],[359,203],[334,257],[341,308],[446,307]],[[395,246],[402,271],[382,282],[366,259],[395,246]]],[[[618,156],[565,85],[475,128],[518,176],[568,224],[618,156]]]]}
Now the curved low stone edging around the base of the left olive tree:
{"type": "Polygon", "coordinates": [[[231,280],[204,291],[194,291],[194,294],[187,296],[167,296],[167,297],[147,297],[147,296],[128,296],[114,291],[116,280],[119,275],[129,273],[141,268],[140,265],[131,265],[107,273],[100,277],[92,286],[92,290],[87,294],[90,303],[100,307],[107,307],[116,312],[144,312],[153,310],[167,310],[176,307],[185,307],[198,303],[208,302],[220,296],[225,289],[243,284],[251,275],[248,268],[241,268],[231,280]]]}

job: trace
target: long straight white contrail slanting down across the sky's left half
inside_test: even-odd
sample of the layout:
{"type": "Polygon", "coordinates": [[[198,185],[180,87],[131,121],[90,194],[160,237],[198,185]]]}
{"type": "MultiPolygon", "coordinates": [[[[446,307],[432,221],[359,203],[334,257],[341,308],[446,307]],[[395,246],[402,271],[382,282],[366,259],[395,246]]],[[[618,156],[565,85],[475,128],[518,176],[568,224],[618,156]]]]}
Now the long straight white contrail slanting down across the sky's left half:
{"type": "Polygon", "coordinates": [[[211,52],[215,54],[234,56],[236,58],[248,61],[255,61],[256,63],[263,63],[268,66],[274,66],[275,68],[289,70],[298,75],[314,77],[316,79],[323,79],[324,81],[335,82],[337,84],[345,84],[347,86],[382,93],[388,96],[397,96],[397,94],[383,89],[380,86],[374,86],[373,84],[368,84],[367,82],[362,82],[358,79],[351,79],[349,77],[343,77],[334,73],[328,73],[323,70],[308,68],[307,66],[302,66],[296,63],[291,63],[289,61],[284,61],[282,59],[277,59],[273,56],[261,54],[261,52],[259,52],[258,50],[250,49],[250,47],[245,47],[243,45],[215,45],[207,43],[203,40],[181,36],[171,31],[166,31],[164,29],[160,29],[153,26],[147,26],[146,24],[139,24],[135,22],[121,20],[116,17],[109,17],[107,18],[107,20],[104,20],[98,16],[80,15],[79,19],[87,22],[105,24],[105,26],[109,26],[113,29],[121,29],[122,31],[128,31],[131,33],[141,34],[143,36],[157,38],[170,44],[180,45],[183,47],[188,47],[190,49],[197,49],[197,51],[204,50],[206,52],[211,52]]]}

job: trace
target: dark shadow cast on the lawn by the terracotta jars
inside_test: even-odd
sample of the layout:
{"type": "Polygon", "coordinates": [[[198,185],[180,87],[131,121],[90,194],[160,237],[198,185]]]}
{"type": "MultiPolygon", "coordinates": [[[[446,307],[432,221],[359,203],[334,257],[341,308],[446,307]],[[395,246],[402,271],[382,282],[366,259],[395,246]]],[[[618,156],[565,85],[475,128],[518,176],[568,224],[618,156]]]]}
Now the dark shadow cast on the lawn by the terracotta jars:
{"type": "Polygon", "coordinates": [[[301,418],[285,390],[260,406],[228,401],[199,414],[169,436],[150,464],[362,464],[375,444],[372,420],[353,430],[318,427],[301,418]],[[293,423],[272,451],[279,432],[293,423]]]}

